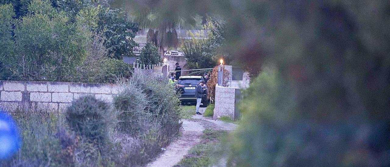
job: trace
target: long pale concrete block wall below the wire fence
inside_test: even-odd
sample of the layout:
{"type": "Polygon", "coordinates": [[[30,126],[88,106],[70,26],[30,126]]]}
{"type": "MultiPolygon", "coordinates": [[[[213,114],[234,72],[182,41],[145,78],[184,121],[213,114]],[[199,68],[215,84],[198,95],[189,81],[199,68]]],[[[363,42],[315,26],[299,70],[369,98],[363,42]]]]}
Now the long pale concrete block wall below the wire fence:
{"type": "Polygon", "coordinates": [[[62,112],[74,99],[87,94],[112,102],[120,89],[121,85],[115,84],[0,81],[0,108],[62,112]]]}

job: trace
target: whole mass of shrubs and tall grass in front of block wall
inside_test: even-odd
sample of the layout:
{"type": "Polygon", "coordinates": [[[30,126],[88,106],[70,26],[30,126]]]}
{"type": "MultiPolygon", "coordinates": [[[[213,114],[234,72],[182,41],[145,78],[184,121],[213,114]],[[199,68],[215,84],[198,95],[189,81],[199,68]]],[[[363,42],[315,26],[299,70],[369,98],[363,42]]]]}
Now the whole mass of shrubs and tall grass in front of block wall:
{"type": "Polygon", "coordinates": [[[174,87],[145,74],[124,83],[113,107],[81,96],[65,111],[11,113],[23,144],[0,166],[144,166],[181,128],[174,87]]]}

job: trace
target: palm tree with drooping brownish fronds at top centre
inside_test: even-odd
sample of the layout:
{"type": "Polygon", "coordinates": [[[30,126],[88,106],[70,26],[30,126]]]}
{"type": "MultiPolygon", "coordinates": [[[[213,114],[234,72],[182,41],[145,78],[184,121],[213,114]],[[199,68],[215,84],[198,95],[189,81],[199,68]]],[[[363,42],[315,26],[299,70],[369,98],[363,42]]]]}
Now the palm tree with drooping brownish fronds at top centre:
{"type": "Polygon", "coordinates": [[[176,14],[175,7],[171,4],[165,4],[171,9],[169,13],[166,9],[154,8],[153,3],[148,1],[116,0],[112,5],[126,7],[141,29],[149,28],[147,40],[155,43],[160,51],[179,46],[177,28],[194,28],[197,23],[202,22],[202,17],[195,11],[189,11],[186,15],[176,14]]]}

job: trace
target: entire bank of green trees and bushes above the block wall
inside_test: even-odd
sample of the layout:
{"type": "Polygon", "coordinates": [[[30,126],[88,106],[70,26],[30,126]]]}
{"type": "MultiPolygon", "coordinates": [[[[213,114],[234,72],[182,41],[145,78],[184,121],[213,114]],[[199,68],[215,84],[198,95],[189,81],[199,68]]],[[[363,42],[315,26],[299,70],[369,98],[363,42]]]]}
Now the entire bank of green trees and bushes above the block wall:
{"type": "Polygon", "coordinates": [[[33,0],[19,19],[12,8],[0,5],[1,80],[112,83],[129,77],[129,65],[108,58],[97,7],[71,18],[47,0],[33,0]]]}

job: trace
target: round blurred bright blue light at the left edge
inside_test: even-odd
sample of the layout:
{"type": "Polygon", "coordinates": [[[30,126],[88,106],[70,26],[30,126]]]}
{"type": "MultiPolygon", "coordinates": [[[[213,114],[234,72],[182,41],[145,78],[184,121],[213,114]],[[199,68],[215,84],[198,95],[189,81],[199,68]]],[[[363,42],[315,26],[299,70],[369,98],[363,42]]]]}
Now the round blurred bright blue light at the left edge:
{"type": "Polygon", "coordinates": [[[7,112],[0,109],[0,160],[13,156],[20,145],[18,126],[7,112]]]}

